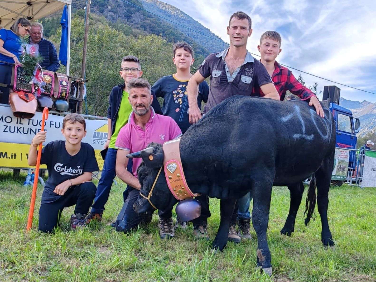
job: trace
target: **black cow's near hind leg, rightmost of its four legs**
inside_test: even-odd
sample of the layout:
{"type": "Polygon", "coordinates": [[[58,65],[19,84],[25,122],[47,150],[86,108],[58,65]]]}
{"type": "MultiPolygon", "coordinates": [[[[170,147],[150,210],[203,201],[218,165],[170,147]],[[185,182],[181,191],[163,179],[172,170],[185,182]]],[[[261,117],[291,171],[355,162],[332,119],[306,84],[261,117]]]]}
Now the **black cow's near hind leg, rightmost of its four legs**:
{"type": "Polygon", "coordinates": [[[328,192],[332,178],[333,158],[323,160],[321,167],[315,172],[317,186],[317,210],[321,217],[321,242],[324,246],[334,246],[332,233],[329,229],[327,210],[328,192]]]}

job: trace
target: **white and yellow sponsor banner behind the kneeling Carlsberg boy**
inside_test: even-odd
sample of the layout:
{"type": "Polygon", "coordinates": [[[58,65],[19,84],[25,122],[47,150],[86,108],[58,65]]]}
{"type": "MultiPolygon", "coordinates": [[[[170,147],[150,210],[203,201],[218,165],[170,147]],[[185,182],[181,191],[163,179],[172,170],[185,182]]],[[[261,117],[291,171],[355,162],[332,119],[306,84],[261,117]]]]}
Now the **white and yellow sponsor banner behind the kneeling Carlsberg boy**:
{"type": "MultiPolygon", "coordinates": [[[[27,165],[27,154],[31,140],[40,131],[42,113],[36,112],[31,119],[21,119],[13,116],[9,107],[0,109],[0,167],[30,168],[27,165]]],[[[65,140],[61,134],[63,119],[64,116],[49,115],[44,124],[47,136],[43,145],[53,140],[65,140]]],[[[107,141],[107,129],[106,121],[86,119],[87,133],[82,142],[89,143],[94,148],[100,170],[103,167],[100,151],[107,141]]]]}

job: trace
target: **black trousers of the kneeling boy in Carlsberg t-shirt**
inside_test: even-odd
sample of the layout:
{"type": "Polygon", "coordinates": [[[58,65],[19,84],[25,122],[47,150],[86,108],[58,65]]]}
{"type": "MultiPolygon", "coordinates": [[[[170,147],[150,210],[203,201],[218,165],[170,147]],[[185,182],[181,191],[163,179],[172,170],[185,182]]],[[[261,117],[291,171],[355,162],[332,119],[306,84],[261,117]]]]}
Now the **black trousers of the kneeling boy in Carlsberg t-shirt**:
{"type": "Polygon", "coordinates": [[[76,205],[74,213],[86,214],[94,200],[97,187],[93,182],[83,182],[70,187],[54,202],[41,204],[39,208],[39,227],[42,232],[52,232],[58,226],[61,212],[66,207],[76,205]]]}

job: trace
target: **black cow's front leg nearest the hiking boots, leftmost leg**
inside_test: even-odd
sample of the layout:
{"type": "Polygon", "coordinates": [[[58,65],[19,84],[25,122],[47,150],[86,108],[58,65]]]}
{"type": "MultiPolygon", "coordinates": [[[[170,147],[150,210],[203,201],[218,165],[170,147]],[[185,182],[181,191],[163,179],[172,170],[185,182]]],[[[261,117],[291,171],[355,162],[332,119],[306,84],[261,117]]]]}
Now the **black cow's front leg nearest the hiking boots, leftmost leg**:
{"type": "Polygon", "coordinates": [[[229,228],[232,213],[235,207],[235,199],[221,199],[221,222],[217,235],[213,242],[213,250],[223,250],[229,238],[229,228]]]}

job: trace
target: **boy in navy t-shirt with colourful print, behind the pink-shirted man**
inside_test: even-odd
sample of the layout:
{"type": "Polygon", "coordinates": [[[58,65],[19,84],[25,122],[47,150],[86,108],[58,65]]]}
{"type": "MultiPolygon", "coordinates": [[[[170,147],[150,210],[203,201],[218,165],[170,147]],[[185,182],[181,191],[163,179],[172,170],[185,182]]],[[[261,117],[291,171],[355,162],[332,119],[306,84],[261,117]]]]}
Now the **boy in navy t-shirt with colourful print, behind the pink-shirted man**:
{"type": "MultiPolygon", "coordinates": [[[[188,80],[192,77],[191,65],[194,63],[193,49],[188,43],[177,43],[173,46],[173,62],[176,65],[176,73],[159,78],[152,87],[156,97],[163,98],[162,112],[170,116],[179,125],[184,134],[190,127],[189,105],[187,99],[188,80]]],[[[208,101],[209,85],[204,80],[199,85],[197,106],[201,108],[201,102],[208,101]]]]}

